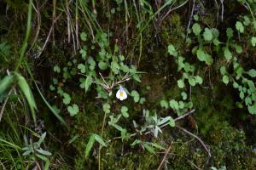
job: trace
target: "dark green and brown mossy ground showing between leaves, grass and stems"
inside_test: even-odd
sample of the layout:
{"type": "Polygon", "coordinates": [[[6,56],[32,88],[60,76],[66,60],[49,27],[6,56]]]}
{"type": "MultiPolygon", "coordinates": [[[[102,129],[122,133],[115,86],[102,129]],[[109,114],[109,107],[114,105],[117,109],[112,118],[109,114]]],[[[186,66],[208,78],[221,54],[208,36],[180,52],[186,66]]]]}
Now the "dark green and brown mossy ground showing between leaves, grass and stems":
{"type": "MultiPolygon", "coordinates": [[[[20,5],[15,6],[15,3],[6,2],[11,8],[15,8],[13,9],[15,12],[22,8],[20,5]]],[[[113,4],[111,3],[110,5],[113,4]]],[[[146,99],[143,105],[128,101],[125,103],[125,105],[129,107],[131,119],[135,119],[139,122],[143,109],[157,111],[162,116],[177,116],[172,110],[163,111],[158,103],[160,99],[163,98],[177,99],[181,93],[180,88],[177,88],[177,79],[180,77],[177,72],[177,64],[174,59],[167,54],[167,45],[171,43],[175,44],[177,51],[180,54],[184,54],[189,62],[193,62],[196,59],[195,55],[190,53],[193,44],[189,45],[184,41],[188,24],[187,18],[183,15],[183,9],[186,7],[187,6],[170,14],[157,28],[154,27],[154,24],[157,24],[157,22],[150,23],[148,29],[143,32],[142,46],[136,43],[137,40],[139,40],[139,37],[136,36],[137,28],[133,26],[135,23],[134,20],[137,20],[136,14],[131,16],[133,20],[131,21],[131,28],[129,28],[127,35],[127,37],[129,37],[128,40],[126,40],[126,37],[122,36],[124,35],[125,26],[127,26],[123,13],[112,14],[111,16],[118,18],[118,20],[112,20],[113,18],[110,18],[111,25],[109,25],[104,14],[99,14],[98,16],[102,28],[114,32],[114,37],[111,37],[110,42],[113,42],[115,37],[121,37],[119,38],[121,41],[119,42],[120,48],[124,50],[125,54],[127,54],[130,59],[132,58],[131,63],[138,65],[139,71],[146,72],[142,74],[141,84],[129,84],[131,88],[137,89],[146,99]],[[108,26],[110,26],[110,28],[108,26]],[[121,28],[117,28],[116,26],[121,26],[121,28]],[[142,48],[142,55],[140,56],[140,63],[138,63],[137,56],[139,56],[140,48],[142,48]],[[150,86],[150,90],[146,89],[147,86],[150,86]]],[[[100,13],[102,7],[97,8],[97,11],[100,13]]],[[[206,9],[204,11],[206,12],[206,9]]],[[[204,13],[204,11],[199,11],[198,13],[204,13]]],[[[215,12],[214,10],[209,10],[207,14],[203,14],[201,19],[202,23],[214,27],[216,25],[215,12]]],[[[186,11],[186,14],[189,14],[189,11],[186,11]]],[[[1,14],[1,16],[2,15],[3,14],[1,14]]],[[[49,21],[49,15],[49,12],[45,10],[42,14],[43,21],[49,21]]],[[[147,14],[145,14],[145,16],[146,15],[147,14]]],[[[59,27],[61,27],[63,23],[64,22],[61,21],[59,27]]],[[[81,25],[81,29],[86,29],[84,22],[81,25]]],[[[43,25],[43,30],[45,31],[44,27],[43,25]]],[[[220,28],[220,30],[221,29],[222,28],[220,28]]],[[[2,30],[3,28],[0,27],[1,32],[2,30]]],[[[14,32],[9,33],[9,37],[12,37],[11,42],[14,43],[15,47],[17,46],[15,42],[20,39],[19,34],[15,32],[15,30],[19,29],[12,30],[14,32]]],[[[29,63],[34,64],[32,65],[32,71],[34,72],[35,78],[41,82],[40,88],[44,91],[44,94],[46,94],[46,98],[49,99],[51,103],[60,104],[58,106],[61,109],[61,115],[65,117],[71,130],[69,133],[66,133],[55,120],[55,117],[50,115],[43,102],[38,103],[38,109],[40,111],[39,117],[44,119],[46,125],[45,130],[53,133],[55,138],[61,140],[56,141],[52,139],[52,144],[48,144],[49,150],[56,150],[58,152],[53,161],[57,162],[61,160],[66,162],[70,167],[78,170],[98,169],[99,145],[96,144],[93,150],[91,150],[88,159],[85,159],[84,150],[90,138],[90,134],[102,132],[104,118],[102,101],[94,98],[96,97],[96,93],[93,91],[84,94],[84,90],[76,86],[79,84],[78,80],[64,82],[63,88],[72,95],[73,102],[80,106],[79,115],[73,118],[68,116],[65,105],[61,104],[61,98],[58,97],[57,94],[48,91],[52,78],[56,77],[55,73],[49,70],[52,70],[54,65],[65,66],[67,61],[79,58],[79,54],[73,54],[73,52],[71,52],[70,48],[73,48],[73,46],[71,44],[65,44],[62,41],[65,39],[64,37],[67,36],[67,32],[64,31],[63,33],[62,31],[62,28],[55,31],[57,35],[55,37],[55,46],[53,46],[53,42],[50,42],[52,47],[46,48],[41,57],[38,59],[28,58],[27,60],[29,63]],[[72,139],[74,136],[78,138],[74,140],[73,143],[69,144],[69,139],[72,139]]],[[[221,34],[223,33],[221,32],[221,34]]],[[[247,32],[245,38],[252,34],[253,32],[247,32]]],[[[6,40],[6,35],[6,32],[3,31],[1,40],[6,40]]],[[[37,44],[43,44],[43,42],[40,41],[43,37],[46,37],[45,32],[38,39],[37,44]]],[[[33,48],[32,51],[37,54],[37,50],[37,48],[33,48]]],[[[254,52],[255,49],[250,48],[243,51],[243,58],[245,58],[245,60],[242,65],[253,68],[256,59],[254,52]],[[252,55],[252,58],[248,59],[249,55],[252,55]]],[[[8,63],[7,61],[5,62],[8,63]]],[[[216,65],[222,62],[223,59],[218,59],[216,65]]],[[[8,63],[7,65],[10,64],[8,63]]],[[[239,99],[238,94],[232,88],[219,82],[221,77],[218,77],[214,67],[205,68],[201,64],[197,65],[199,65],[200,68],[198,72],[204,77],[206,83],[192,88],[190,93],[191,100],[194,103],[195,113],[177,122],[177,124],[198,135],[210,148],[212,157],[207,156],[207,152],[196,139],[183,133],[177,127],[172,129],[166,128],[159,139],[154,139],[152,135],[148,135],[147,137],[141,137],[142,140],[156,140],[166,148],[172,144],[172,149],[168,156],[166,156],[165,164],[167,169],[187,170],[197,169],[198,167],[201,169],[209,169],[209,167],[222,166],[226,166],[227,169],[232,170],[256,169],[256,153],[253,151],[256,147],[256,133],[254,130],[256,128],[255,116],[248,115],[246,109],[237,109],[236,101],[239,99]]],[[[1,74],[3,74],[3,72],[1,72],[1,74]]],[[[38,101],[41,101],[38,95],[36,95],[36,98],[38,101]]],[[[113,102],[113,104],[115,105],[113,110],[117,111],[120,104],[118,104],[118,102],[113,102]]],[[[9,105],[6,111],[9,111],[11,107],[12,106],[9,105]]],[[[20,116],[20,120],[23,119],[24,117],[20,116]]],[[[123,126],[126,126],[127,129],[134,130],[129,123],[130,122],[125,121],[122,122],[123,126]]],[[[101,149],[102,169],[146,170],[157,169],[157,167],[159,167],[165,152],[154,155],[140,146],[131,146],[132,139],[129,141],[113,139],[119,136],[119,133],[113,127],[108,127],[107,125],[108,121],[105,122],[102,137],[106,141],[111,140],[111,142],[108,144],[108,148],[102,147],[101,149]]],[[[66,168],[68,169],[68,166],[66,168]]],[[[65,168],[61,167],[61,169],[65,168]]]]}

